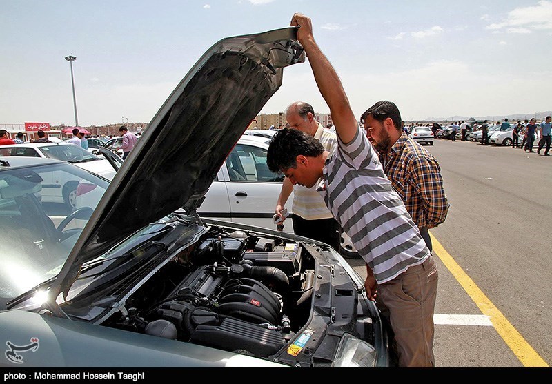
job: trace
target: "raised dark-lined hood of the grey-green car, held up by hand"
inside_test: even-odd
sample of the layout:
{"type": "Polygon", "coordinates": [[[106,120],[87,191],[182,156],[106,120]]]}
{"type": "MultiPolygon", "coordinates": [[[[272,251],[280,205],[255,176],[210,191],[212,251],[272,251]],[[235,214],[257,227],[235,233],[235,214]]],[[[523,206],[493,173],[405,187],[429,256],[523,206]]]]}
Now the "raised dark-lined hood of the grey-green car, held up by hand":
{"type": "Polygon", "coordinates": [[[304,62],[297,28],[215,43],[155,114],[115,174],[50,288],[55,301],[86,261],[139,228],[184,207],[195,210],[217,171],[266,101],[283,68],[304,62]]]}

